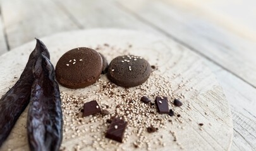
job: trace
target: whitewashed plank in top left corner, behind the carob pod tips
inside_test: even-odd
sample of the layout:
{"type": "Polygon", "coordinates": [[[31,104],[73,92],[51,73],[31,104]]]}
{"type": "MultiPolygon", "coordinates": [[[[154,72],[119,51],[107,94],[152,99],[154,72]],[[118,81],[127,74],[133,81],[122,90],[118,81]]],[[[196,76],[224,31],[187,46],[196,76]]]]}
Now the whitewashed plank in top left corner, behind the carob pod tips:
{"type": "Polygon", "coordinates": [[[35,37],[78,29],[51,0],[4,0],[1,11],[10,48],[18,47],[35,37]]]}

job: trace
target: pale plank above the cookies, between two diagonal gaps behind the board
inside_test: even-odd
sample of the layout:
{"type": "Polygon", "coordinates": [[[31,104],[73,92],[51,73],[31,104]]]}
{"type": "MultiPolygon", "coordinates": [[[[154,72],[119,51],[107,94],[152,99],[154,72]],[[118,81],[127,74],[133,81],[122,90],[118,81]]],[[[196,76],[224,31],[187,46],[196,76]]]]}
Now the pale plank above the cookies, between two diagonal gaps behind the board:
{"type": "Polygon", "coordinates": [[[113,1],[52,0],[82,28],[126,28],[159,34],[152,27],[114,5],[113,1]]]}

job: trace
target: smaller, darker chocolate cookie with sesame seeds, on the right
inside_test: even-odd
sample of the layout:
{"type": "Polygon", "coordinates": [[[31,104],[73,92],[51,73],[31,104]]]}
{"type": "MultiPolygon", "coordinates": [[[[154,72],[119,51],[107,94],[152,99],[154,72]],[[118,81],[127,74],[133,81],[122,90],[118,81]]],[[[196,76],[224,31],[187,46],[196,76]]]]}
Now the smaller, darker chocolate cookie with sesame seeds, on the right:
{"type": "Polygon", "coordinates": [[[147,60],[134,55],[124,55],[109,64],[107,77],[118,86],[134,87],[147,81],[151,67],[147,60]]]}

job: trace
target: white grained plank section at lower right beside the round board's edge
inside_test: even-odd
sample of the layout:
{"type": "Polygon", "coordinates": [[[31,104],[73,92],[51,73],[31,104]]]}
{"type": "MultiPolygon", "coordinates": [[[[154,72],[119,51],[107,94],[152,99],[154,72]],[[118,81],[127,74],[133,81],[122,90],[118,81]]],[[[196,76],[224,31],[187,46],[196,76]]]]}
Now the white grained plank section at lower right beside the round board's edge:
{"type": "Polygon", "coordinates": [[[234,138],[231,150],[255,149],[256,89],[226,70],[207,63],[217,77],[231,106],[234,138]]]}

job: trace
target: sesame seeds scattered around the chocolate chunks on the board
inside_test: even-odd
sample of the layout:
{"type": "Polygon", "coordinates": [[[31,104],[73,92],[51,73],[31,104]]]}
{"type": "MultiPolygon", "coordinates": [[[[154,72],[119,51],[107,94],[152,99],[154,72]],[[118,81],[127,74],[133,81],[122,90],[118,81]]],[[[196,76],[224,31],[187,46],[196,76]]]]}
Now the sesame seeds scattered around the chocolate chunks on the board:
{"type": "MultiPolygon", "coordinates": [[[[107,48],[113,49],[113,47],[107,48]]],[[[121,51],[123,50],[117,50],[118,53],[121,51]]],[[[124,50],[122,53],[127,54],[128,52],[124,50]]],[[[113,56],[111,55],[111,57],[113,56]]],[[[138,60],[139,58],[142,59],[142,57],[132,55],[130,55],[130,57],[124,56],[123,58],[126,59],[126,62],[130,58],[130,62],[132,62],[132,60],[138,60]]],[[[73,59],[70,60],[70,62],[73,63],[73,59]]],[[[123,62],[125,61],[123,60],[123,62]]],[[[129,70],[130,69],[131,67],[129,67],[129,70]]],[[[112,69],[112,71],[114,71],[114,69],[112,69]]],[[[152,72],[152,75],[145,83],[143,83],[139,87],[136,87],[136,89],[138,89],[139,91],[131,91],[131,89],[116,89],[117,86],[115,84],[106,81],[102,77],[101,80],[98,80],[95,82],[95,84],[93,84],[93,87],[95,87],[95,89],[93,88],[92,91],[94,92],[90,91],[90,94],[88,95],[87,93],[85,93],[80,94],[80,96],[71,96],[65,94],[64,92],[61,92],[61,106],[63,108],[63,140],[69,140],[71,137],[75,137],[74,140],[76,140],[78,135],[84,136],[85,133],[89,133],[92,136],[93,150],[96,150],[95,148],[99,148],[99,150],[107,150],[106,144],[109,144],[109,140],[105,138],[102,130],[107,130],[107,127],[109,126],[109,123],[106,123],[107,120],[111,121],[113,117],[121,116],[125,121],[129,123],[127,125],[128,131],[125,131],[124,134],[123,144],[125,144],[126,142],[130,142],[129,137],[136,137],[136,139],[132,140],[133,142],[131,143],[135,144],[134,147],[136,146],[137,148],[143,149],[144,147],[146,147],[146,149],[148,150],[149,148],[152,148],[153,150],[153,139],[157,140],[157,137],[149,140],[152,137],[145,136],[145,133],[147,133],[147,127],[154,126],[157,130],[159,129],[158,131],[161,131],[161,129],[164,129],[166,128],[166,126],[169,125],[173,127],[178,127],[178,125],[181,125],[181,120],[184,120],[185,122],[186,119],[183,119],[183,117],[177,118],[175,116],[171,117],[168,115],[167,118],[166,116],[161,116],[157,113],[157,109],[155,109],[155,105],[153,102],[145,104],[140,101],[140,98],[142,96],[149,96],[149,98],[154,98],[155,96],[168,96],[171,99],[181,99],[181,94],[185,94],[185,96],[189,98],[188,96],[192,94],[191,91],[193,91],[189,87],[186,87],[184,84],[181,84],[181,86],[178,87],[178,84],[170,82],[171,79],[174,79],[177,76],[171,75],[168,77],[159,75],[157,73],[158,72],[152,72]],[[188,89],[188,91],[185,91],[186,88],[188,89]],[[81,108],[86,101],[90,101],[89,99],[95,99],[99,101],[99,106],[101,106],[102,109],[107,109],[107,111],[109,111],[109,114],[98,114],[82,118],[82,113],[80,112],[81,108]],[[113,101],[110,101],[112,99],[113,101]],[[119,108],[116,108],[117,105],[119,105],[119,108]],[[91,125],[94,126],[90,127],[91,125]]],[[[186,81],[185,78],[184,81],[186,81]]],[[[183,101],[186,102],[184,104],[186,108],[178,108],[178,110],[175,109],[175,111],[180,113],[181,115],[183,114],[182,111],[185,111],[185,109],[188,109],[189,107],[189,101],[186,99],[184,99],[183,101]]],[[[173,103],[171,103],[171,105],[173,105],[173,103]]],[[[181,125],[181,129],[179,130],[182,130],[182,128],[186,128],[183,126],[184,125],[181,125]]],[[[198,126],[198,129],[202,129],[203,127],[204,126],[198,126]]],[[[158,132],[156,131],[156,133],[158,132]]],[[[178,141],[175,133],[173,133],[173,136],[173,141],[178,141]]],[[[164,140],[162,140],[162,138],[160,139],[160,141],[160,145],[168,146],[168,144],[164,144],[164,140]]],[[[156,142],[157,143],[155,144],[159,143],[158,141],[156,142]]],[[[76,142],[71,145],[72,147],[76,148],[79,144],[81,148],[80,150],[83,150],[87,147],[88,143],[89,142],[83,140],[80,143],[76,142]]],[[[114,145],[119,150],[122,150],[121,147],[119,147],[118,143],[114,141],[111,141],[111,145],[114,145]]],[[[65,146],[63,145],[63,148],[64,147],[65,146]]]]}

